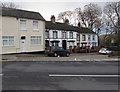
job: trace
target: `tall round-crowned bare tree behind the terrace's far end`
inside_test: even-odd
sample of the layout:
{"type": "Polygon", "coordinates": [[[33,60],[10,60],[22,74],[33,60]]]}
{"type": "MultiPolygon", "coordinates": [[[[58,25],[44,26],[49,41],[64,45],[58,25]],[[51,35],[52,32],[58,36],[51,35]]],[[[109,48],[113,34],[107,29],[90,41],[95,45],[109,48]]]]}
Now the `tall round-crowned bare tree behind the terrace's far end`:
{"type": "Polygon", "coordinates": [[[84,21],[90,29],[93,29],[94,24],[100,20],[101,14],[101,8],[97,4],[90,3],[84,6],[82,21],[84,21]]]}

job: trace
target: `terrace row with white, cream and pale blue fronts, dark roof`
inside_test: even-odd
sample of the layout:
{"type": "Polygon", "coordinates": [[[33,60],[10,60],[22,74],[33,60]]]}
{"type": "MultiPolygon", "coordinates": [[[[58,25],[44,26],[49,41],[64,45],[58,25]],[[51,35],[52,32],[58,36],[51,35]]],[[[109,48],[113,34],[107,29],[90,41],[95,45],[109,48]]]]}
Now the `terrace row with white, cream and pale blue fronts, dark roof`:
{"type": "Polygon", "coordinates": [[[98,46],[98,37],[95,32],[88,28],[69,25],[68,22],[55,22],[55,17],[51,21],[46,21],[46,47],[60,46],[64,49],[69,47],[98,46]]]}

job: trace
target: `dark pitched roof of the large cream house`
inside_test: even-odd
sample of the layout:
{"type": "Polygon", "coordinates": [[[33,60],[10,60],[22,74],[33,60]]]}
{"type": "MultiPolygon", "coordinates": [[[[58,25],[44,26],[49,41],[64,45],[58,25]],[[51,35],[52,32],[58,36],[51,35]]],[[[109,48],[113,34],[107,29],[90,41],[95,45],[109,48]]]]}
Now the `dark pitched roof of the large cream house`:
{"type": "Polygon", "coordinates": [[[1,11],[0,15],[2,15],[2,16],[27,18],[27,19],[35,19],[35,20],[45,21],[45,19],[42,17],[42,15],[38,12],[13,9],[13,8],[3,8],[3,7],[0,7],[0,11],[1,11]]]}

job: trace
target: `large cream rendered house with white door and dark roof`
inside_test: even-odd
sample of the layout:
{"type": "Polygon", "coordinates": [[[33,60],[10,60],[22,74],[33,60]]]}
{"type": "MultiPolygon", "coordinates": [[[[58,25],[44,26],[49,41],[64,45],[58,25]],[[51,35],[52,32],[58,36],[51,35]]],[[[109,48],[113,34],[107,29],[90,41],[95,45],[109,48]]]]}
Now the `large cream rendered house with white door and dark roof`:
{"type": "Polygon", "coordinates": [[[38,12],[0,8],[0,54],[44,51],[45,19],[38,12]]]}

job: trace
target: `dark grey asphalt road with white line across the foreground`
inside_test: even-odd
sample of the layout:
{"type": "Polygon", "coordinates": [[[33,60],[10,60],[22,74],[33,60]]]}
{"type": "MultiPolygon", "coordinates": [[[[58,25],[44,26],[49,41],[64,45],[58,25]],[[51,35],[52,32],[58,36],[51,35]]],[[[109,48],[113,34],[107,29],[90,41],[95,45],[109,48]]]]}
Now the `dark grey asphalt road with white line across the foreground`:
{"type": "Polygon", "coordinates": [[[3,62],[3,90],[118,90],[117,61],[3,62]]]}

